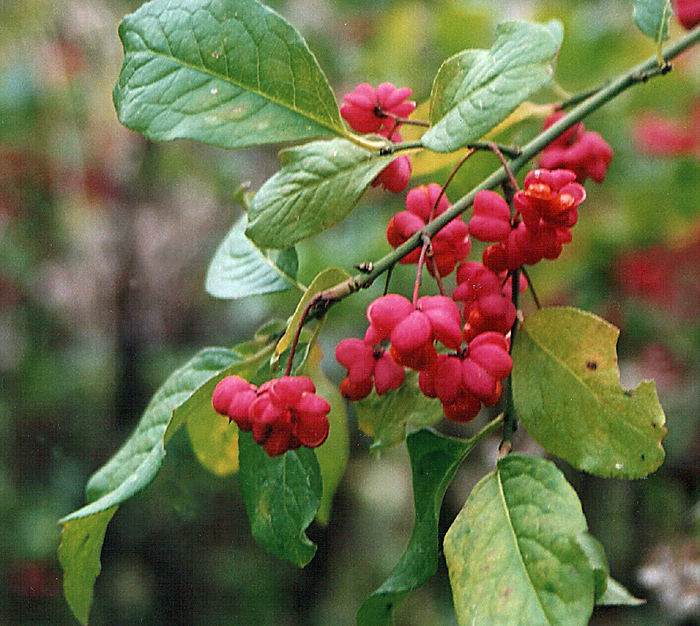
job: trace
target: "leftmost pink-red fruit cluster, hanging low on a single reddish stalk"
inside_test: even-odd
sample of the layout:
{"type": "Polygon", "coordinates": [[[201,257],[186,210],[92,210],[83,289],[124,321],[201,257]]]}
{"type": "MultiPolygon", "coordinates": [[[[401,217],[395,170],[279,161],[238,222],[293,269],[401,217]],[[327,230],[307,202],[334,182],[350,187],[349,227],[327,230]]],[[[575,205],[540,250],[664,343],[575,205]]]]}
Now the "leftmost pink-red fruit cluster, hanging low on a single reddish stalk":
{"type": "Polygon", "coordinates": [[[214,389],[212,405],[242,431],[253,433],[271,457],[299,446],[315,448],[328,437],[330,405],[316,395],[308,376],[283,376],[260,385],[227,376],[214,389]]]}

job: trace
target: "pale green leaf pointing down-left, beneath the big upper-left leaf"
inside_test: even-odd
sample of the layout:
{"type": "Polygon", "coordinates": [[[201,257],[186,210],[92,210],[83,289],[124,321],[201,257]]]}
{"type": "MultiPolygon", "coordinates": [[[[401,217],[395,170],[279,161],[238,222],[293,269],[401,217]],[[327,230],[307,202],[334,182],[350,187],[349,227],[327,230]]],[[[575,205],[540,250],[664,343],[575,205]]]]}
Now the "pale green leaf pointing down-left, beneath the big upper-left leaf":
{"type": "Polygon", "coordinates": [[[282,169],[253,198],[246,235],[263,248],[287,248],[335,226],[395,158],[345,139],[283,150],[282,169]]]}

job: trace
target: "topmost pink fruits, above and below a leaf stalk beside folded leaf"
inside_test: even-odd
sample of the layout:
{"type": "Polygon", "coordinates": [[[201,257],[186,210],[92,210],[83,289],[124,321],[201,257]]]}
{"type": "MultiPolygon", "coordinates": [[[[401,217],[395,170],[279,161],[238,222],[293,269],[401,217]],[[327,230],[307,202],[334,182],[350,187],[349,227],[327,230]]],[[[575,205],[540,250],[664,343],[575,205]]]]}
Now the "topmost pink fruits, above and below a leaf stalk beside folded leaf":
{"type": "MultiPolygon", "coordinates": [[[[368,83],[361,83],[354,91],[345,94],[345,104],[340,114],[354,131],[376,133],[394,143],[402,141],[398,127],[401,120],[408,118],[416,108],[416,103],[407,100],[410,88],[397,88],[391,83],[382,83],[376,89],[368,83]]],[[[387,191],[399,193],[406,189],[411,178],[411,159],[407,155],[395,158],[379,173],[372,186],[381,185],[387,191]]]]}

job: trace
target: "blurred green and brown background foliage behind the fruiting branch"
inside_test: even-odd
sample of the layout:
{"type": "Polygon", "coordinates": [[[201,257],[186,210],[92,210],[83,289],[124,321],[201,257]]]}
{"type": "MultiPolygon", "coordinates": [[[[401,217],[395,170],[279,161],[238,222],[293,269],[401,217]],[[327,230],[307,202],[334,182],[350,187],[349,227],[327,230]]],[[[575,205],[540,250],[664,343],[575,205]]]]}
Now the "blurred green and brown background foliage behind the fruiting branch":
{"type": "MultiPolygon", "coordinates": [[[[275,172],[276,148],[156,145],[118,124],[111,103],[121,64],[116,28],[139,4],[0,2],[3,624],[74,623],[60,588],[56,520],[83,504],[87,478],[129,435],[175,367],[205,345],[249,338],[295,305],[294,294],[232,303],[204,292],[208,260],[240,211],[234,191],[248,181],[256,189],[275,172]]],[[[558,80],[571,92],[654,52],[624,0],[268,4],[307,38],[338,99],[358,82],[390,81],[425,101],[443,59],[489,47],[495,24],[512,17],[564,22],[558,80]]],[[[699,52],[586,120],[615,151],[608,178],[587,184],[589,198],[562,258],[531,270],[545,303],[575,304],[621,327],[623,384],[655,378],[667,413],[667,459],[645,481],[603,480],[560,464],[613,575],[648,599],[641,608],[597,610],[595,624],[700,620],[700,140],[694,152],[671,158],[645,154],[634,139],[645,111],[691,132],[699,52]]],[[[540,101],[555,98],[543,93],[540,101]]],[[[523,124],[505,139],[524,141],[539,124],[523,124]]],[[[696,134],[698,128],[700,121],[696,134]]],[[[475,157],[449,197],[494,165],[489,155],[475,157]]],[[[299,246],[300,280],[386,253],[384,228],[401,205],[402,197],[371,191],[343,224],[299,246]]],[[[397,268],[392,287],[407,293],[410,274],[397,268]]],[[[364,308],[382,287],[334,307],[321,340],[326,355],[340,338],[364,331],[364,308]]],[[[527,312],[532,304],[524,300],[527,312]]],[[[340,380],[328,356],[324,366],[340,380]]],[[[254,544],[236,477],[208,474],[181,432],[156,482],[123,505],[107,530],[93,623],[353,623],[412,526],[405,449],[377,458],[369,444],[353,426],[331,522],[312,526],[317,556],[296,570],[254,544]]],[[[443,532],[492,467],[496,444],[482,445],[458,473],[443,532]]],[[[541,453],[522,429],[516,447],[541,453]]],[[[444,564],[401,605],[397,622],[455,623],[444,564]]]]}

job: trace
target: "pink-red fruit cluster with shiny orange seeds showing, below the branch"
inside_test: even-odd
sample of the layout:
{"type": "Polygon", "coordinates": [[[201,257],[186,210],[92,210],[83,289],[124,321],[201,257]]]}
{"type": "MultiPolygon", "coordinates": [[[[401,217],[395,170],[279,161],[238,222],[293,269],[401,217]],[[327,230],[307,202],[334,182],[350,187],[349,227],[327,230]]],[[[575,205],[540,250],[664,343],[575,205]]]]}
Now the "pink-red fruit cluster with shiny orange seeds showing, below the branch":
{"type": "Polygon", "coordinates": [[[513,198],[513,217],[501,196],[480,191],[474,198],[469,233],[480,241],[494,242],[483,252],[484,265],[500,273],[556,259],[563,244],[571,241],[578,206],[586,199],[584,188],[575,180],[570,170],[533,170],[513,198]]]}

